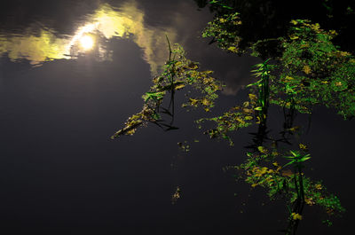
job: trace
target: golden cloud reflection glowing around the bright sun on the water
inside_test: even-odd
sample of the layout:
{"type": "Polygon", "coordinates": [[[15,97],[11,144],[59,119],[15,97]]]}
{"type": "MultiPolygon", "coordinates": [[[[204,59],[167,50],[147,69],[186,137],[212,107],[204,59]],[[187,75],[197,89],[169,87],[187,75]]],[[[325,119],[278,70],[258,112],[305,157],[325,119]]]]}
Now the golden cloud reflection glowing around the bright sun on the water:
{"type": "Polygon", "coordinates": [[[143,58],[155,74],[168,56],[165,35],[171,41],[177,35],[170,28],[147,27],[144,12],[134,1],[119,9],[102,4],[85,21],[73,35],[58,36],[45,28],[39,34],[0,35],[0,56],[6,54],[12,61],[28,59],[38,66],[53,59],[77,59],[78,55],[96,50],[98,59],[106,60],[111,52],[105,46],[108,39],[130,37],[142,49],[143,58]]]}

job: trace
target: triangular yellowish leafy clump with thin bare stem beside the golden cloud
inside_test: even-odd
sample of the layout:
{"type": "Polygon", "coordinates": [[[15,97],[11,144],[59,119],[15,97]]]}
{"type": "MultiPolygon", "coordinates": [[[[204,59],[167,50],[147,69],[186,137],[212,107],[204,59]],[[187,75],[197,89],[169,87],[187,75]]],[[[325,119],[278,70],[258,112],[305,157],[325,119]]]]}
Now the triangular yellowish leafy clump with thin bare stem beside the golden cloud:
{"type": "Polygon", "coordinates": [[[162,74],[154,77],[154,85],[143,95],[145,104],[142,111],[130,116],[124,127],[116,131],[112,138],[133,135],[138,127],[145,126],[148,122],[152,122],[165,130],[177,129],[177,127],[172,126],[174,94],[177,90],[182,90],[186,86],[197,90],[201,96],[197,98],[188,97],[183,106],[202,106],[206,112],[209,112],[214,106],[214,100],[218,97],[217,91],[222,90],[222,83],[210,76],[213,73],[212,71],[199,71],[198,63],[186,59],[185,51],[179,44],[176,43],[173,48],[170,48],[169,40],[168,43],[170,58],[164,65],[162,74]],[[170,106],[164,108],[162,107],[163,100],[168,96],[168,93],[170,94],[170,106]],[[170,116],[172,121],[166,123],[162,119],[162,114],[170,116]]]}

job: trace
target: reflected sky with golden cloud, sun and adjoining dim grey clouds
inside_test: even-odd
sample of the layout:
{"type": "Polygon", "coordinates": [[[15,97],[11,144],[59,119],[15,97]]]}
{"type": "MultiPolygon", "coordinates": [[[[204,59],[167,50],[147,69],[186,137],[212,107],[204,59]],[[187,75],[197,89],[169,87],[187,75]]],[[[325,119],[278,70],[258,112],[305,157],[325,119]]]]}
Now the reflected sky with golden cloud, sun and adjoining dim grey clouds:
{"type": "Polygon", "coordinates": [[[259,62],[224,53],[215,45],[207,46],[210,39],[201,38],[201,31],[212,15],[207,9],[197,12],[193,1],[59,1],[54,6],[43,1],[36,1],[39,5],[20,2],[32,12],[24,13],[12,5],[4,12],[10,15],[3,17],[4,26],[0,24],[0,57],[12,62],[28,61],[40,67],[53,60],[81,57],[113,61],[110,43],[131,40],[141,49],[141,58],[151,74],[156,75],[168,58],[168,35],[171,43],[185,47],[188,58],[216,71],[215,76],[226,84],[226,95],[235,95],[248,84],[250,67],[259,62]],[[73,11],[67,10],[66,4],[73,11]],[[36,12],[41,7],[46,11],[36,12]]]}

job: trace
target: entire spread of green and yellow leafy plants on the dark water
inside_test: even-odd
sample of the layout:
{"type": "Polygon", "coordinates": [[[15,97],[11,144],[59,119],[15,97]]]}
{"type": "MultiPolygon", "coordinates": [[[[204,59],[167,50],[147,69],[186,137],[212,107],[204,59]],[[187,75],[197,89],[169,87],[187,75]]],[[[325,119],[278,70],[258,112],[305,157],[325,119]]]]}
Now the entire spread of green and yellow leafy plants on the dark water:
{"type": "MultiPolygon", "coordinates": [[[[212,1],[230,10],[220,1],[212,1]]],[[[321,29],[310,20],[291,20],[287,35],[268,38],[255,43],[242,44],[240,36],[240,14],[233,12],[217,16],[209,22],[203,36],[213,37],[221,49],[238,55],[250,53],[264,59],[253,72],[259,78],[247,86],[248,100],[240,106],[233,106],[222,115],[201,118],[195,121],[203,129],[205,121],[214,121],[216,127],[204,133],[210,138],[224,138],[233,145],[230,133],[251,125],[257,125],[254,144],[248,146],[247,158],[233,168],[240,171],[240,177],[252,188],[261,186],[268,189],[272,200],[285,200],[288,208],[288,227],[285,234],[296,234],[303,219],[304,206],[318,205],[325,208],[327,215],[340,215],[345,209],[340,200],[327,192],[321,181],[305,176],[306,161],[311,153],[303,143],[299,149],[280,148],[280,143],[291,144],[299,127],[294,126],[296,113],[311,114],[316,105],[333,107],[344,119],[355,115],[355,59],[350,52],[340,51],[332,43],[336,32],[321,29]],[[273,45],[273,52],[267,51],[273,45]],[[277,51],[277,53],[274,53],[277,51]],[[272,58],[265,59],[265,55],[272,58]],[[271,63],[272,62],[272,63],[271,63]],[[267,118],[270,105],[280,106],[284,111],[285,123],[281,137],[271,137],[267,131],[267,118]],[[271,143],[271,144],[270,144],[271,143]],[[288,161],[288,162],[285,162],[288,161]],[[281,162],[284,162],[281,164],[281,162]]],[[[190,86],[201,96],[186,95],[184,107],[201,106],[210,112],[215,105],[217,92],[222,90],[221,82],[210,76],[212,71],[199,71],[198,63],[185,57],[184,49],[174,44],[161,75],[154,77],[154,85],[143,96],[144,106],[140,113],[132,115],[124,127],[113,136],[132,135],[140,126],[152,122],[164,130],[177,129],[174,121],[175,92],[190,86]],[[168,96],[170,94],[170,96],[168,96]],[[163,100],[170,98],[169,106],[163,107],[163,100]],[[170,117],[170,121],[162,119],[170,117]]],[[[186,142],[178,143],[185,152],[190,150],[186,142]]],[[[180,188],[172,197],[173,203],[180,197],[180,188]]],[[[329,220],[327,224],[331,224],[329,220]]]]}

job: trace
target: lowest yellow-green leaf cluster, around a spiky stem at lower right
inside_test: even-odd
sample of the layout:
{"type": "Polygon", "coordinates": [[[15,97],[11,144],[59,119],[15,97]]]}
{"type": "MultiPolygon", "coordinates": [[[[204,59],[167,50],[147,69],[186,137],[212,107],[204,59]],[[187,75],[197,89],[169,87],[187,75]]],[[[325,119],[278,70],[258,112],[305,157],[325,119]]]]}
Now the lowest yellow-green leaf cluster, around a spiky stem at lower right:
{"type": "MultiPolygon", "coordinates": [[[[272,200],[283,198],[292,205],[301,194],[304,194],[305,204],[318,205],[324,208],[328,215],[344,212],[340,200],[327,192],[320,181],[312,181],[311,178],[304,176],[304,173],[297,171],[297,167],[301,165],[304,167],[303,162],[310,159],[310,154],[304,153],[303,149],[290,151],[290,153],[291,156],[288,156],[287,153],[280,153],[276,148],[259,146],[256,153],[247,153],[247,160],[236,168],[241,169],[243,178],[252,187],[266,188],[272,200]],[[291,161],[282,167],[280,161],[284,158],[291,161]],[[302,176],[301,181],[299,181],[300,176],[302,176]]],[[[290,210],[289,213],[292,215],[296,212],[290,210]]],[[[301,215],[301,213],[296,214],[301,215]]]]}

